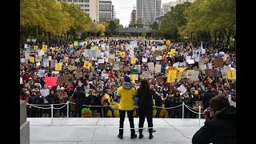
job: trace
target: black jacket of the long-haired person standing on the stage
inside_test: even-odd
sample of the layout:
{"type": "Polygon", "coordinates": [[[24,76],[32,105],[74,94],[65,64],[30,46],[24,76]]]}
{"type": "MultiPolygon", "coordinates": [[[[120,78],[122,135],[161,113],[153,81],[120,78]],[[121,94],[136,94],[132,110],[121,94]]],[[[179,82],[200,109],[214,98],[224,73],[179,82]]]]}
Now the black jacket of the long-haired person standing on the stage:
{"type": "Polygon", "coordinates": [[[153,114],[153,95],[154,90],[150,90],[148,94],[138,93],[138,114],[153,114]]]}

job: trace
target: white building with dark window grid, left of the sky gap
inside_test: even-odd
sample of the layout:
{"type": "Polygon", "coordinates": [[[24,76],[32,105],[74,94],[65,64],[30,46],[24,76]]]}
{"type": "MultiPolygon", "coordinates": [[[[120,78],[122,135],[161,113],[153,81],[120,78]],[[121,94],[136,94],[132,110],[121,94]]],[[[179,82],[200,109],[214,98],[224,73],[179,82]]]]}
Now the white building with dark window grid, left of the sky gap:
{"type": "Polygon", "coordinates": [[[99,19],[113,19],[113,5],[111,1],[99,1],[99,19]]]}

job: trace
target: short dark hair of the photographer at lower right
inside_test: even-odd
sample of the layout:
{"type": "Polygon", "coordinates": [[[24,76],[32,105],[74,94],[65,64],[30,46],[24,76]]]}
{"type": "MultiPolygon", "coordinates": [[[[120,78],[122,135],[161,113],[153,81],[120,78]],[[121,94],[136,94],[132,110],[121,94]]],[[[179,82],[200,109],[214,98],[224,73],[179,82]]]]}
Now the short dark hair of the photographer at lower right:
{"type": "Polygon", "coordinates": [[[223,96],[218,95],[210,99],[210,108],[213,108],[214,110],[219,111],[227,106],[230,106],[230,102],[223,96]]]}

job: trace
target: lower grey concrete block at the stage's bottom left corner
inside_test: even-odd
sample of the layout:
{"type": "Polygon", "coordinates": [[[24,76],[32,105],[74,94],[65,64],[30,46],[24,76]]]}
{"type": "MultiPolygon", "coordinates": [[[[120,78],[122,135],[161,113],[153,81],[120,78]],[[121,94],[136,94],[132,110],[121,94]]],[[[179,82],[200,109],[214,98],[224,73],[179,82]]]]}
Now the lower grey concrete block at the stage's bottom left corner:
{"type": "Polygon", "coordinates": [[[20,126],[20,144],[30,144],[30,122],[26,121],[20,126]]]}

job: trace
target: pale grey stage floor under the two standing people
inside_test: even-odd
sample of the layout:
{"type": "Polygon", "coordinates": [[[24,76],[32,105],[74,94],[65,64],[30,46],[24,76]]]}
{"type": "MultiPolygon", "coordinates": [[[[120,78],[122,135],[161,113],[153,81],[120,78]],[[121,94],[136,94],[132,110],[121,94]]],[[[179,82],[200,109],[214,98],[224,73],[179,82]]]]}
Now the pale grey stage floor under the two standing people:
{"type": "MultiPolygon", "coordinates": [[[[143,130],[144,138],[130,139],[126,118],[124,138],[119,139],[119,118],[54,118],[53,125],[51,118],[27,118],[27,121],[30,122],[30,144],[189,144],[205,122],[201,119],[199,126],[198,119],[154,118],[153,139],[149,139],[147,130],[143,130]]],[[[134,118],[134,125],[138,128],[138,118],[134,118]]],[[[144,126],[147,127],[146,120],[144,126]]]]}

